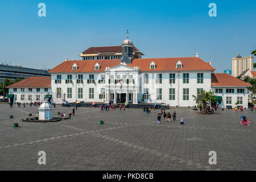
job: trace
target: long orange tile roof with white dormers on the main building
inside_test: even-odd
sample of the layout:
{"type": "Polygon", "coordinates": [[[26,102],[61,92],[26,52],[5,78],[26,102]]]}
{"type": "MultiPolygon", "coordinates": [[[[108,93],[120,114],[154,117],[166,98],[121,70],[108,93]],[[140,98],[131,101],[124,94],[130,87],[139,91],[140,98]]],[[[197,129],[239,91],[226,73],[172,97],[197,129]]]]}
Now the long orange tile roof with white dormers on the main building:
{"type": "MultiPolygon", "coordinates": [[[[49,73],[61,73],[61,72],[104,72],[106,67],[114,67],[119,65],[121,61],[119,59],[113,60],[72,60],[64,61],[52,68],[49,73]],[[76,71],[72,70],[72,65],[76,63],[78,68],[76,71]],[[99,70],[94,70],[94,65],[100,64],[99,70]]],[[[148,58],[148,59],[134,59],[131,64],[127,64],[129,67],[139,67],[140,71],[214,71],[208,63],[205,63],[199,57],[172,57],[172,58],[148,58]],[[154,61],[155,69],[150,69],[150,64],[154,61]],[[181,61],[182,68],[176,68],[176,63],[181,61]]]]}

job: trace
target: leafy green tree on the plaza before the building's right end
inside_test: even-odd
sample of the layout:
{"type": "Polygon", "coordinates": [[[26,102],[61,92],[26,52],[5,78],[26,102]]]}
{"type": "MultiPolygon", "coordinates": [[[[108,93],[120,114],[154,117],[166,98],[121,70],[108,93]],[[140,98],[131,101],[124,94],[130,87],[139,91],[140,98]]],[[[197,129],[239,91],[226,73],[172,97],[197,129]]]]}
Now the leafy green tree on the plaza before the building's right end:
{"type": "Polygon", "coordinates": [[[196,101],[196,104],[202,107],[201,114],[207,113],[207,106],[212,105],[214,102],[217,102],[216,94],[210,90],[206,92],[205,90],[199,93],[199,96],[192,96],[193,100],[196,101]]]}

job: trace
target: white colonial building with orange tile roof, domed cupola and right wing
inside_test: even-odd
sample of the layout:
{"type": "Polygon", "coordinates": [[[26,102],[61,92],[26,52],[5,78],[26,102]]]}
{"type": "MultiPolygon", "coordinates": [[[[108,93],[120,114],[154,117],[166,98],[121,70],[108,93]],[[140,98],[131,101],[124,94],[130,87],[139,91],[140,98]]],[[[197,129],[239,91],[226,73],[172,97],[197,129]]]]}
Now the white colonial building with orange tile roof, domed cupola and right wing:
{"type": "Polygon", "coordinates": [[[53,102],[193,106],[193,95],[212,89],[219,106],[248,105],[250,85],[228,74],[214,74],[215,69],[198,53],[195,57],[147,59],[142,55],[127,37],[121,46],[87,49],[80,55],[83,60],[65,58],[49,71],[53,102]]]}

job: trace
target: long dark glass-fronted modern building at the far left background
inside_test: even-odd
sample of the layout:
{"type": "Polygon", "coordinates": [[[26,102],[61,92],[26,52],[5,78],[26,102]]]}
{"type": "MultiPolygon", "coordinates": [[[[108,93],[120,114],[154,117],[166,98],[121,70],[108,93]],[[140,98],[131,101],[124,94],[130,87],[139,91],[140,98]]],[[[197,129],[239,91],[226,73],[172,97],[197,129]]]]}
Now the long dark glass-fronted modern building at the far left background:
{"type": "Polygon", "coordinates": [[[24,68],[21,66],[12,66],[7,64],[0,64],[0,82],[5,78],[15,80],[16,78],[28,78],[31,76],[51,76],[43,69],[24,68]]]}

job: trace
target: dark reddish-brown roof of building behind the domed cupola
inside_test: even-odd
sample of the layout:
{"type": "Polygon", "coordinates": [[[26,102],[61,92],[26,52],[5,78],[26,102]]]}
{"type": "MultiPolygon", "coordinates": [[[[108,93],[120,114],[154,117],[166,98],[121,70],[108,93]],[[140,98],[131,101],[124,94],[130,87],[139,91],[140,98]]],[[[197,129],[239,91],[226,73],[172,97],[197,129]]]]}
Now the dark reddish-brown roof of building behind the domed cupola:
{"type": "MultiPolygon", "coordinates": [[[[139,51],[133,46],[133,51],[139,51]]],[[[107,47],[90,47],[86,49],[82,54],[93,54],[98,52],[118,52],[122,53],[122,46],[107,46],[107,47]]]]}

